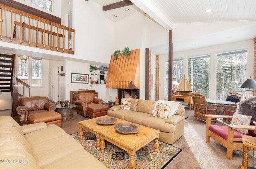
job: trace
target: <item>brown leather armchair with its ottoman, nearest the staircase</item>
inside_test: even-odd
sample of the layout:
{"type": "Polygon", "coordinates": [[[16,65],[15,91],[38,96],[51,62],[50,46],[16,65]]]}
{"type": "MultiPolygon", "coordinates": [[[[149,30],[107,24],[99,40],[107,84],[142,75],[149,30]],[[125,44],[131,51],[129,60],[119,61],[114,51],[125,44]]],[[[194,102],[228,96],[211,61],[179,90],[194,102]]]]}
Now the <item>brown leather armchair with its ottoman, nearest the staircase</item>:
{"type": "Polygon", "coordinates": [[[19,99],[16,108],[20,125],[45,122],[61,126],[61,114],[55,112],[55,104],[48,102],[48,97],[25,97],[19,99]]]}

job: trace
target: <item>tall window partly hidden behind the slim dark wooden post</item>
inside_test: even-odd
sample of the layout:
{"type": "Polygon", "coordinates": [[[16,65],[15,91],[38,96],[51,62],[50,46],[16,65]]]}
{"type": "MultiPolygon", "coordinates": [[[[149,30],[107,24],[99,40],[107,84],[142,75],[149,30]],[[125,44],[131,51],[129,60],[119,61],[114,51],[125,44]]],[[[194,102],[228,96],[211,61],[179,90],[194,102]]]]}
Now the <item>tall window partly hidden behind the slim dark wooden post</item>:
{"type": "MultiPolygon", "coordinates": [[[[168,67],[169,61],[165,61],[165,96],[168,97],[168,67]]],[[[180,83],[183,77],[183,59],[173,59],[172,61],[172,81],[180,83]]],[[[178,87],[178,86],[177,86],[178,87]]]]}

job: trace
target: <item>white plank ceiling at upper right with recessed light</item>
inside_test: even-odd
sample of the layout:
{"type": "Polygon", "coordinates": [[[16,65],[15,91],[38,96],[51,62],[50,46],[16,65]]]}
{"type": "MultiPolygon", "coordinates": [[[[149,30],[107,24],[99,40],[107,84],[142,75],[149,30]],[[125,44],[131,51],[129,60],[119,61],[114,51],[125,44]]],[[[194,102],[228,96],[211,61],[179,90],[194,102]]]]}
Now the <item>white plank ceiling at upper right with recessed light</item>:
{"type": "Polygon", "coordinates": [[[256,20],[256,0],[148,0],[172,23],[256,20]],[[206,12],[211,9],[211,12],[206,12]]]}

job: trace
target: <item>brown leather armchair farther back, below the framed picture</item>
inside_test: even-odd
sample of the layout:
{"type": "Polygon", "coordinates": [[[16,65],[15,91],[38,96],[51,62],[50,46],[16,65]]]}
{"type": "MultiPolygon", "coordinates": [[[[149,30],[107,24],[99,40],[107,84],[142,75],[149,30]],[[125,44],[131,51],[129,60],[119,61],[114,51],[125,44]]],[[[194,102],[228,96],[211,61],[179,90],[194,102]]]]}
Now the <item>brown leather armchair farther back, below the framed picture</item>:
{"type": "Polygon", "coordinates": [[[86,117],[87,106],[102,104],[102,102],[102,99],[95,98],[94,93],[80,93],[77,95],[77,100],[75,102],[77,114],[80,113],[86,117]]]}

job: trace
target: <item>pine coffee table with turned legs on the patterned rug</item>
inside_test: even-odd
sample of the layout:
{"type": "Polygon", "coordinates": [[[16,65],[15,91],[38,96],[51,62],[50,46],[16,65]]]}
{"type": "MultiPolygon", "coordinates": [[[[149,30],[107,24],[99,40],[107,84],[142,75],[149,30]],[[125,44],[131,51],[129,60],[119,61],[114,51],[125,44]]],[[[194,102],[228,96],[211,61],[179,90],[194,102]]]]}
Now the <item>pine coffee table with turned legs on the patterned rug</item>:
{"type": "MultiPolygon", "coordinates": [[[[111,117],[111,116],[102,116],[102,117],[111,117]]],[[[98,118],[102,118],[98,117],[98,118]]],[[[96,147],[102,153],[104,153],[105,149],[105,140],[109,141],[110,143],[122,148],[123,150],[127,151],[130,155],[129,160],[129,168],[134,169],[135,167],[135,160],[134,155],[137,150],[141,147],[150,143],[150,141],[154,140],[154,151],[158,151],[158,138],[160,131],[155,130],[152,128],[148,128],[145,126],[141,126],[139,124],[127,122],[125,120],[116,119],[116,123],[125,123],[125,124],[133,124],[138,126],[139,132],[137,134],[120,134],[116,132],[114,129],[114,125],[99,125],[96,123],[98,118],[93,118],[90,120],[84,120],[78,122],[79,124],[79,136],[80,139],[83,138],[83,129],[88,130],[89,132],[96,135],[96,147]]],[[[112,117],[111,117],[112,118],[112,117]]]]}

